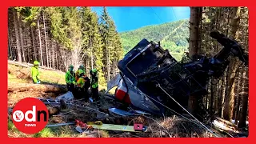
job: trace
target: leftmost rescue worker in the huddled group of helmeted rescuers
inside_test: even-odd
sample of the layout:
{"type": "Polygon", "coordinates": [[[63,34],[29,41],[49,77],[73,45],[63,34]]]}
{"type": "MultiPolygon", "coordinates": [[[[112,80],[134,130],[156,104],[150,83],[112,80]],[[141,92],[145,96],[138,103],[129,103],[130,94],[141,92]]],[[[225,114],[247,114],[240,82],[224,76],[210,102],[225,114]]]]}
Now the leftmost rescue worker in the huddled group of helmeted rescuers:
{"type": "Polygon", "coordinates": [[[67,90],[73,92],[74,91],[74,66],[70,65],[69,70],[67,70],[66,75],[65,75],[65,80],[66,80],[66,86],[67,90]]]}

